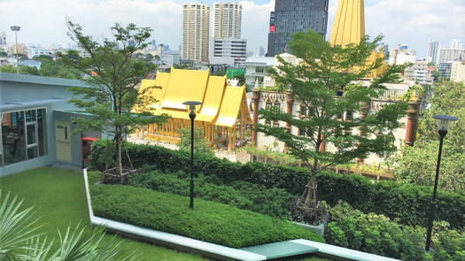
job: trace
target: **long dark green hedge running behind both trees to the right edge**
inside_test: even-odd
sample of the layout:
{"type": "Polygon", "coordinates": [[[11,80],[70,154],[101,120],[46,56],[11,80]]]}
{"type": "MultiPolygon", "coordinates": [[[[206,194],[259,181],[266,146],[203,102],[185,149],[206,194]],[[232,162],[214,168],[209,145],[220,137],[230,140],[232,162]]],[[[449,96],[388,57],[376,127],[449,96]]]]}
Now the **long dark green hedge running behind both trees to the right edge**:
{"type": "MultiPolygon", "coordinates": [[[[108,141],[93,143],[90,164],[98,170],[105,169],[100,158],[108,141]]],[[[127,144],[128,154],[135,167],[157,165],[162,171],[189,171],[189,153],[168,150],[150,145],[127,144]]],[[[128,159],[124,165],[128,165],[128,159]]],[[[211,176],[217,184],[230,184],[235,180],[249,181],[266,188],[283,188],[295,196],[303,192],[310,173],[306,168],[280,165],[263,165],[259,162],[247,164],[229,162],[217,157],[196,157],[195,172],[211,176]]],[[[430,209],[432,188],[414,184],[403,184],[390,180],[373,183],[364,177],[322,172],[317,177],[318,196],[330,205],[340,199],[364,212],[383,214],[399,223],[411,226],[426,226],[430,209]]],[[[436,219],[447,221],[451,227],[465,226],[465,195],[438,191],[436,219]]]]}

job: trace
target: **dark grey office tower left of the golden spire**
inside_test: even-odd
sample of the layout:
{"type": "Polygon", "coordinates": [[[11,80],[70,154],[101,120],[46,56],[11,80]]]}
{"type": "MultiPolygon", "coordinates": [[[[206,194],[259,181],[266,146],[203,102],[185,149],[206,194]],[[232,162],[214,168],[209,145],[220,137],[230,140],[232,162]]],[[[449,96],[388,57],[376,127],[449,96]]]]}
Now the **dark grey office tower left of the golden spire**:
{"type": "Polygon", "coordinates": [[[267,57],[284,52],[291,34],[307,29],[326,35],[329,0],[275,0],[269,19],[267,57]]]}

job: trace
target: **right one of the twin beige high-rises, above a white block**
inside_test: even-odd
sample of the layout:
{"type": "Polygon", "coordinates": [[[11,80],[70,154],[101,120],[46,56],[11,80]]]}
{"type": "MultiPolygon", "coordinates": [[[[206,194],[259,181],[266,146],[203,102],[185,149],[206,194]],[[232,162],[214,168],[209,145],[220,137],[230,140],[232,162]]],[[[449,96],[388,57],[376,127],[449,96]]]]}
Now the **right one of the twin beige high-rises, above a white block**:
{"type": "Polygon", "coordinates": [[[213,3],[213,37],[241,39],[242,4],[213,3]]]}

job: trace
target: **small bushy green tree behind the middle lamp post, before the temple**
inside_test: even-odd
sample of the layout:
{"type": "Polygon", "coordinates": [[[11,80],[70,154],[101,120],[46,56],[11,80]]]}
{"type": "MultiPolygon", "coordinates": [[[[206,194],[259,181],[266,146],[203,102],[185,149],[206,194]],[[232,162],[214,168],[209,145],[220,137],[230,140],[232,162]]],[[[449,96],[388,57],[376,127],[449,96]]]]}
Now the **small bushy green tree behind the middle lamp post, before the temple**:
{"type": "MultiPolygon", "coordinates": [[[[190,152],[190,127],[182,127],[179,130],[181,141],[177,143],[179,150],[190,152]]],[[[204,153],[213,156],[214,152],[210,148],[210,143],[205,139],[202,128],[194,127],[194,152],[204,153]]]]}

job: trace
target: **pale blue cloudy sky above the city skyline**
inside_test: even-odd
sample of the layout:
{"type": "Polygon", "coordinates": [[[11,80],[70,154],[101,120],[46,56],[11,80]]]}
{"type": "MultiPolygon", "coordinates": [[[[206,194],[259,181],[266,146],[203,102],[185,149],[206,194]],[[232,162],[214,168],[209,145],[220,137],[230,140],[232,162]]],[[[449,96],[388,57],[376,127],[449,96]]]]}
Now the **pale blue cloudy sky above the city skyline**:
{"type": "MultiPolygon", "coordinates": [[[[229,0],[230,2],[237,2],[229,0]]],[[[66,18],[84,27],[84,33],[98,39],[111,36],[115,22],[151,27],[151,40],[173,50],[181,44],[181,5],[183,0],[0,0],[0,31],[14,41],[10,27],[21,27],[18,41],[25,44],[61,44],[72,42],[66,35],[66,18]]],[[[212,0],[198,1],[212,5],[212,0]]],[[[242,38],[247,50],[259,54],[267,50],[269,14],[274,0],[238,1],[243,5],[242,38]]],[[[328,35],[338,0],[329,0],[328,35]]],[[[396,47],[406,43],[425,58],[430,39],[449,45],[453,39],[465,48],[465,0],[365,0],[366,34],[373,39],[384,35],[384,43],[396,47]]],[[[210,32],[212,34],[212,27],[210,32]]],[[[74,42],[72,42],[74,44],[74,42]]]]}

